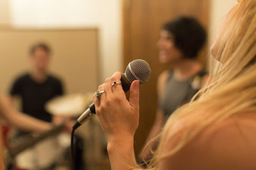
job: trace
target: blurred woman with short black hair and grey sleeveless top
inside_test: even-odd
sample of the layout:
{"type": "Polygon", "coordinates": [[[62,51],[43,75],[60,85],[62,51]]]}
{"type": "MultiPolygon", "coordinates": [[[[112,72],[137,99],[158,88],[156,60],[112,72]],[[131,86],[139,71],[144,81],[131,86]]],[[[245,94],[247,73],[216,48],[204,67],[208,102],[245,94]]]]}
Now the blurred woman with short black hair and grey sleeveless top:
{"type": "MultiPolygon", "coordinates": [[[[173,111],[188,103],[205,82],[205,68],[196,60],[205,40],[205,29],[195,18],[179,17],[163,25],[157,42],[159,62],[170,67],[158,78],[156,120],[146,143],[156,138],[173,111]]],[[[150,160],[156,148],[156,142],[150,143],[140,158],[150,160]]]]}

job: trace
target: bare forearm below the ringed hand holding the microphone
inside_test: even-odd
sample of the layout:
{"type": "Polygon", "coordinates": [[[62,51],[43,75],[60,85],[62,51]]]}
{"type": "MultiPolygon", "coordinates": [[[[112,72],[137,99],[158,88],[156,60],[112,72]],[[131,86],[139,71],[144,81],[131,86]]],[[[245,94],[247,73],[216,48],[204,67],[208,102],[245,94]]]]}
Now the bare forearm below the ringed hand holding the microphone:
{"type": "Polygon", "coordinates": [[[112,170],[131,170],[137,167],[133,136],[108,139],[108,155],[112,170]]]}

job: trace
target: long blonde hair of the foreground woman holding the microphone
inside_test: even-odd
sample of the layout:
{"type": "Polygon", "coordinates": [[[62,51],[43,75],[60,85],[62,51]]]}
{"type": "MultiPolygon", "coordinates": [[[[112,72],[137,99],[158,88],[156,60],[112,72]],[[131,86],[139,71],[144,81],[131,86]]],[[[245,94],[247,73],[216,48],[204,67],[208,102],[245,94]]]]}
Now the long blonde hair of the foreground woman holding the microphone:
{"type": "Polygon", "coordinates": [[[241,0],[230,10],[212,46],[210,77],[199,99],[182,106],[164,125],[151,169],[159,160],[179,152],[208,125],[237,113],[256,113],[256,0],[241,0]],[[186,124],[183,120],[189,119],[186,124]],[[180,125],[181,124],[181,125],[180,125]],[[180,125],[180,126],[179,126],[180,125]],[[182,127],[182,129],[180,128],[182,127]],[[180,134],[177,145],[166,155],[159,155],[167,136],[180,134]]]}

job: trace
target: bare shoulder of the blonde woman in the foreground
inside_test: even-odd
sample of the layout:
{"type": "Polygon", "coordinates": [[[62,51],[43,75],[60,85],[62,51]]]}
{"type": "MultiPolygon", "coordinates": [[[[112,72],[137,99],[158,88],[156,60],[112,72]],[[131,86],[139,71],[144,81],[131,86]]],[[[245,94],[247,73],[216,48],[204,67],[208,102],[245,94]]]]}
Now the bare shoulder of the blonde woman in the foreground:
{"type": "MultiPolygon", "coordinates": [[[[203,122],[198,122],[198,126],[203,122]]],[[[173,149],[184,132],[168,136],[162,155],[173,149]]],[[[193,132],[193,129],[191,131],[193,132]]],[[[205,127],[194,139],[171,157],[159,162],[160,169],[256,169],[256,114],[244,113],[205,127]]]]}

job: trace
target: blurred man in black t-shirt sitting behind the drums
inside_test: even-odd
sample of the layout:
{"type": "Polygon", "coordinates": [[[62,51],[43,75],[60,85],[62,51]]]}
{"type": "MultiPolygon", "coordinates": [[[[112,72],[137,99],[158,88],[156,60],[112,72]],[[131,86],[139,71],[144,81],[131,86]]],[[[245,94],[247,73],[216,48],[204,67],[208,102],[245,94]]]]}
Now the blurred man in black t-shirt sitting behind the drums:
{"type": "Polygon", "coordinates": [[[52,122],[52,115],[45,110],[45,104],[53,97],[63,95],[60,78],[49,73],[51,48],[45,43],[37,43],[29,50],[31,69],[20,75],[10,89],[11,100],[15,96],[22,99],[22,112],[32,117],[52,122]]]}

